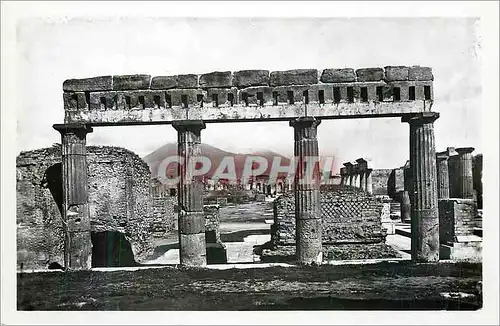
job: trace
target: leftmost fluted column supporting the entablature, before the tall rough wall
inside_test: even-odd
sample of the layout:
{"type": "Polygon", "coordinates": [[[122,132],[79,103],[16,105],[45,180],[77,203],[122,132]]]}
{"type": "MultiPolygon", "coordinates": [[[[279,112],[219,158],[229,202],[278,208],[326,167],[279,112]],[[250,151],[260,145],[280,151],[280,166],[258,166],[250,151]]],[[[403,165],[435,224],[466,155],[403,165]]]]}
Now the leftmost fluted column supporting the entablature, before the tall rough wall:
{"type": "Polygon", "coordinates": [[[62,221],[64,267],[66,270],[92,268],[89,194],[87,182],[87,133],[84,124],[56,124],[61,133],[62,221]]]}

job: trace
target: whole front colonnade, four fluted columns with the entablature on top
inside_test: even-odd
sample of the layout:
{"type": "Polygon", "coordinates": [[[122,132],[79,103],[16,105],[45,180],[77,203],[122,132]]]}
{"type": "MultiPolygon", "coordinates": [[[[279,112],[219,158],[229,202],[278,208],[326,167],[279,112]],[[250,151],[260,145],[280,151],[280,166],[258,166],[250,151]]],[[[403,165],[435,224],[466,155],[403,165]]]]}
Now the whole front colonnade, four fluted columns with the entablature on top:
{"type": "MultiPolygon", "coordinates": [[[[322,119],[401,117],[410,126],[413,178],[412,259],[439,260],[436,153],[432,112],[433,75],[427,67],[245,70],[202,75],[126,75],[72,79],[63,83],[62,215],[68,269],[90,268],[90,210],[86,134],[98,126],[172,124],[178,154],[200,154],[206,123],[288,121],[299,161],[318,157],[322,119]]],[[[303,165],[301,165],[303,166],[303,165]]],[[[181,264],[207,263],[203,186],[182,171],[178,186],[181,264]]],[[[302,172],[299,174],[302,175],[302,172]]],[[[296,258],[321,262],[322,215],[319,180],[294,182],[296,258]]]]}

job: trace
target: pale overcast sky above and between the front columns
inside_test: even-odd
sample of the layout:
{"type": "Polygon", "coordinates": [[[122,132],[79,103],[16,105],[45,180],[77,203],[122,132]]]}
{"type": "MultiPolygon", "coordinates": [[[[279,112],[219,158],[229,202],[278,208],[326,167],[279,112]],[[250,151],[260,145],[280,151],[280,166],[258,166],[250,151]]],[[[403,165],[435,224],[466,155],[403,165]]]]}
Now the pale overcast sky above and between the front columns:
{"type": "MultiPolygon", "coordinates": [[[[25,20],[17,29],[17,148],[60,142],[52,124],[63,122],[62,82],[68,78],[422,65],[434,72],[437,150],[472,146],[480,152],[476,31],[470,18],[25,20]]],[[[365,157],[375,168],[401,166],[408,159],[408,130],[397,118],[323,121],[320,154],[339,163],[365,157]]],[[[177,136],[169,125],[100,127],[87,139],[144,156],[177,136]]],[[[234,152],[293,154],[285,122],[208,124],[202,141],[234,152]]]]}

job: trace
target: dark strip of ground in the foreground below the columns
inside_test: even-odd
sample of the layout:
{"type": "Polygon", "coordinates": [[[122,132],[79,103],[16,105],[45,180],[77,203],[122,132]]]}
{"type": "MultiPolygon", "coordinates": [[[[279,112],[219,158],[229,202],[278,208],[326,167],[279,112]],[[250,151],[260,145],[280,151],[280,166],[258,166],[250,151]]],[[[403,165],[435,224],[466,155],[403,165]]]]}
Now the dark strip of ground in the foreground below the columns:
{"type": "Polygon", "coordinates": [[[18,274],[19,310],[475,310],[480,264],[18,274]]]}

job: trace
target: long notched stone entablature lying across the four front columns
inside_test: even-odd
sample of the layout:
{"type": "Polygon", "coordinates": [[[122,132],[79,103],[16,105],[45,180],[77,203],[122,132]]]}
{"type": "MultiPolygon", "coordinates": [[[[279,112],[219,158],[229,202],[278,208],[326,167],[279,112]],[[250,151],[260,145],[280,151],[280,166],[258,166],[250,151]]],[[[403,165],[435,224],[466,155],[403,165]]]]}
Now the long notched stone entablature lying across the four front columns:
{"type": "Polygon", "coordinates": [[[66,123],[289,120],[430,111],[428,67],[124,75],[63,83],[66,123]]]}

